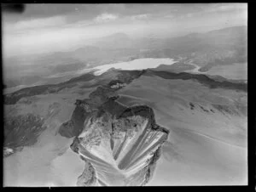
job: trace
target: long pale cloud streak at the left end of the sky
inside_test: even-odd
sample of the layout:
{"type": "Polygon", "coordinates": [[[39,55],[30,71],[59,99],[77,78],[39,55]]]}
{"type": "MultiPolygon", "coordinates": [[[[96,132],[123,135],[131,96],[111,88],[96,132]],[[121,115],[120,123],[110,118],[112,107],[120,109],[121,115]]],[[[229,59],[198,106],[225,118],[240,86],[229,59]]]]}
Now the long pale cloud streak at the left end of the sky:
{"type": "Polygon", "coordinates": [[[64,25],[65,23],[66,19],[64,16],[54,16],[43,19],[21,20],[16,23],[5,25],[3,29],[6,31],[22,31],[28,29],[64,25]]]}

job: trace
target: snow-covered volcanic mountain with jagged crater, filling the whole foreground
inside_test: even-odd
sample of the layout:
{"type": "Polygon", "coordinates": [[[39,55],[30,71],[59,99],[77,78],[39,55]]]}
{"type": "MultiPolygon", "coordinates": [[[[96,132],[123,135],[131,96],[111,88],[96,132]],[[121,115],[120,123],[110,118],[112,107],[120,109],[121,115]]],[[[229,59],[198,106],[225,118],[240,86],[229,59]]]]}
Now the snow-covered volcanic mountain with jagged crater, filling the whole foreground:
{"type": "Polygon", "coordinates": [[[112,69],[20,89],[4,114],[9,186],[246,183],[246,83],[112,69]]]}

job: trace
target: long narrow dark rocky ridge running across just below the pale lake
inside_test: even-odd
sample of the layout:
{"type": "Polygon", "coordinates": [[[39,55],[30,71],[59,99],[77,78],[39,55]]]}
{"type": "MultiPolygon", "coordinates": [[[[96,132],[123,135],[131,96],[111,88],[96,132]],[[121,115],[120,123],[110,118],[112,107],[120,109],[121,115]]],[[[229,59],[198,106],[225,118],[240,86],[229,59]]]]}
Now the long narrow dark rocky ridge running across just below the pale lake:
{"type": "Polygon", "coordinates": [[[231,80],[226,80],[224,78],[222,78],[221,81],[218,81],[217,77],[209,77],[202,74],[189,74],[186,72],[173,73],[173,72],[167,72],[167,71],[152,71],[152,70],[143,70],[143,71],[116,70],[116,71],[118,73],[117,79],[115,80],[108,79],[109,82],[106,82],[104,79],[100,79],[102,78],[102,76],[104,76],[104,74],[102,74],[102,76],[97,77],[91,73],[87,73],[82,76],[72,78],[67,82],[61,82],[59,84],[49,84],[49,85],[34,86],[31,88],[22,88],[14,93],[9,93],[4,95],[4,104],[16,104],[20,99],[31,97],[34,95],[57,93],[64,88],[73,88],[74,86],[76,86],[77,82],[90,82],[90,80],[94,80],[94,79],[96,79],[96,85],[95,84],[84,85],[83,88],[92,88],[95,86],[100,86],[97,88],[96,92],[93,92],[90,95],[90,99],[96,96],[96,98],[93,99],[96,101],[96,104],[105,103],[108,100],[107,98],[112,97],[111,94],[113,94],[114,96],[115,90],[113,90],[111,86],[113,86],[116,83],[120,83],[120,85],[122,86],[125,84],[129,84],[134,79],[137,79],[142,75],[160,76],[166,79],[182,79],[182,80],[194,79],[198,82],[201,82],[204,85],[207,85],[209,88],[229,88],[229,89],[236,89],[236,90],[247,92],[247,83],[245,82],[231,81],[231,80]],[[108,89],[112,89],[113,92],[111,92],[108,89]]]}

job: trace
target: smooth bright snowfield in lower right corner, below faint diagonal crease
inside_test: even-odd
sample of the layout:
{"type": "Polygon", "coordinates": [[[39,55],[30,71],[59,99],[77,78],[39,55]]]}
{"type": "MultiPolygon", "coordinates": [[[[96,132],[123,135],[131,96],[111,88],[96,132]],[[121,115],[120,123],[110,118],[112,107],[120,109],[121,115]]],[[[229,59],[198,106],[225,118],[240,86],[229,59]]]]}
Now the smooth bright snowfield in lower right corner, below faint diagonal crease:
{"type": "Polygon", "coordinates": [[[247,149],[172,127],[149,185],[247,184],[247,149]]]}

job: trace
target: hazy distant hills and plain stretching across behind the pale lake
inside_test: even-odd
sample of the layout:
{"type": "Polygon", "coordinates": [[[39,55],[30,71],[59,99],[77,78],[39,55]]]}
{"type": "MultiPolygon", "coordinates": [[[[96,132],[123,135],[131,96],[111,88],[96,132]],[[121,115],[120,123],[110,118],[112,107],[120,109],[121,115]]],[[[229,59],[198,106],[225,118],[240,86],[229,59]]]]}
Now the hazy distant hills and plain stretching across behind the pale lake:
{"type": "MultiPolygon", "coordinates": [[[[45,81],[42,78],[61,72],[79,71],[89,66],[87,64],[93,67],[138,58],[181,58],[183,59],[181,62],[191,60],[201,66],[200,71],[209,71],[213,65],[247,62],[247,26],[234,26],[165,39],[155,37],[133,39],[125,33],[115,33],[95,39],[91,45],[70,52],[57,52],[24,59],[4,59],[5,83],[7,87],[30,85],[39,81],[50,84],[60,82],[62,79],[45,81]]],[[[179,71],[182,71],[187,69],[188,65],[179,67],[181,67],[179,71]]]]}

